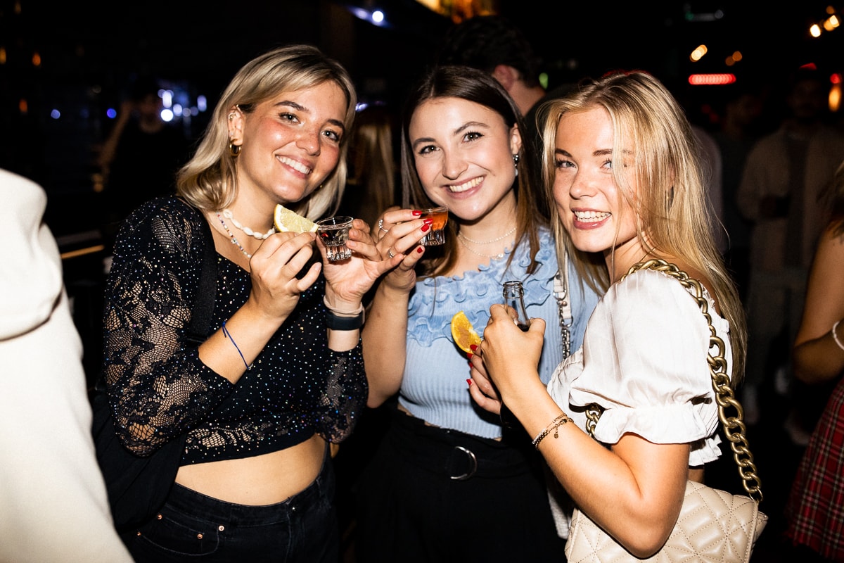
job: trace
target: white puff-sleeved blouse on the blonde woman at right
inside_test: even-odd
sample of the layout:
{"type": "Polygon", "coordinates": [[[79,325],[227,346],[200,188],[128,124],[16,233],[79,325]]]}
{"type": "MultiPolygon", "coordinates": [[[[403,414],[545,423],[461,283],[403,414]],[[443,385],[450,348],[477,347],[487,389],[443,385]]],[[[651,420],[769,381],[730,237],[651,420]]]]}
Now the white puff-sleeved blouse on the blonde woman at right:
{"type": "MultiPolygon", "coordinates": [[[[557,367],[549,393],[578,426],[586,428],[588,404],[603,407],[598,441],[613,444],[630,432],[653,443],[691,443],[690,466],[721,455],[706,361],[710,331],[690,291],[666,273],[630,274],[598,303],[582,348],[557,367]]],[[[731,374],[729,323],[704,295],[731,374]]]]}

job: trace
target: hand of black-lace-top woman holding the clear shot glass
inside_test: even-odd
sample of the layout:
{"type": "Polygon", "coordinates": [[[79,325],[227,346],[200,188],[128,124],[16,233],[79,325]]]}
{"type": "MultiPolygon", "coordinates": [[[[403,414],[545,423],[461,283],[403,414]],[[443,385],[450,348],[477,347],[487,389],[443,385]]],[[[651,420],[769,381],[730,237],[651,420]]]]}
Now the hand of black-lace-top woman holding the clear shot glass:
{"type": "Polygon", "coordinates": [[[376,280],[402,260],[398,255],[381,257],[370,235],[369,225],[363,219],[354,219],[346,245],[352,251],[351,257],[341,262],[328,262],[325,245],[322,241],[317,242],[326,279],[326,299],[340,310],[360,304],[376,280]]]}

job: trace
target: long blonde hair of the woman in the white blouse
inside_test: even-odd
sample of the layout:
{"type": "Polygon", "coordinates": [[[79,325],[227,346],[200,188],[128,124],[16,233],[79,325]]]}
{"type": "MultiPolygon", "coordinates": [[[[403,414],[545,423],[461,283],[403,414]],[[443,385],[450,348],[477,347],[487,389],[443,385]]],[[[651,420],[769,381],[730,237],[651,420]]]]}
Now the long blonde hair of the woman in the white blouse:
{"type": "MultiPolygon", "coordinates": [[[[733,348],[733,387],[744,375],[747,329],[738,290],[717,250],[714,211],[706,194],[705,167],[684,110],[657,78],[645,72],[618,72],[585,80],[568,96],[544,104],[543,175],[549,201],[554,201],[555,139],[560,117],[567,112],[599,107],[613,124],[613,160],[622,151],[635,154],[635,197],[621,167],[613,175],[624,198],[637,214],[637,235],[647,249],[683,257],[692,268],[706,273],[724,318],[730,323],[733,348]],[[630,143],[630,146],[627,145],[630,143]]],[[[587,283],[600,290],[609,287],[603,260],[577,251],[565,232],[560,214],[551,206],[557,252],[569,252],[587,283]]]]}

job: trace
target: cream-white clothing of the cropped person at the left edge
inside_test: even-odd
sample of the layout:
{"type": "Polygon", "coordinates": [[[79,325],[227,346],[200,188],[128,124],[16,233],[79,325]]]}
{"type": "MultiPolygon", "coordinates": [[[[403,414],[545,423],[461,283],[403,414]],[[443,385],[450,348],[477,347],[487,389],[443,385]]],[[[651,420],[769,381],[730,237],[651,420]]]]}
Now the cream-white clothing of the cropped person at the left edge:
{"type": "Polygon", "coordinates": [[[0,170],[0,199],[0,561],[131,563],[95,457],[46,193],[0,170]]]}

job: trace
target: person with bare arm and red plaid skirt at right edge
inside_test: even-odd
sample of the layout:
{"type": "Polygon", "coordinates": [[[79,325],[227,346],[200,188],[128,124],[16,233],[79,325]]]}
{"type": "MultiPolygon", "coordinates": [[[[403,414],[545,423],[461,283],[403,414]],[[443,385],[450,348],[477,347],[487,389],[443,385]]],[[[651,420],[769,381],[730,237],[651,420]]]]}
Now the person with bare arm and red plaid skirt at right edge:
{"type": "Polygon", "coordinates": [[[786,535],[804,549],[800,561],[844,561],[844,162],[834,186],[793,351],[794,376],[829,398],[786,506],[786,535]]]}

